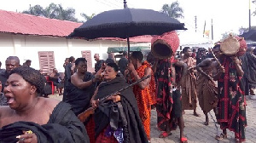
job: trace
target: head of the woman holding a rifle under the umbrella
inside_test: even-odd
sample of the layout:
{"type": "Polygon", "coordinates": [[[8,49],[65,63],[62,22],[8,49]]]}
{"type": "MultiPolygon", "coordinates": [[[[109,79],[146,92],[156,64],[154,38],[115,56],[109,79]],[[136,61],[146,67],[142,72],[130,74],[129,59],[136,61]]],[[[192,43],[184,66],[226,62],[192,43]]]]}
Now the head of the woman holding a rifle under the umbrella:
{"type": "Polygon", "coordinates": [[[108,63],[108,65],[105,68],[104,79],[106,81],[110,81],[117,76],[118,72],[119,66],[117,66],[115,63],[108,63]]]}

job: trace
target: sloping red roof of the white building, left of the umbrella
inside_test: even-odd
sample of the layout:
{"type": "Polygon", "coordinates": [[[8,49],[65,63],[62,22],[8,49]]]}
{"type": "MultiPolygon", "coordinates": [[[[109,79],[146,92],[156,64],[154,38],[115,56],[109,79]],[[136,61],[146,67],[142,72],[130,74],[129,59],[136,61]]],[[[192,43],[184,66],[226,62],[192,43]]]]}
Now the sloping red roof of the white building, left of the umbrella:
{"type": "Polygon", "coordinates": [[[67,37],[74,28],[81,26],[67,20],[48,19],[31,14],[0,10],[0,32],[24,35],[67,37]]]}

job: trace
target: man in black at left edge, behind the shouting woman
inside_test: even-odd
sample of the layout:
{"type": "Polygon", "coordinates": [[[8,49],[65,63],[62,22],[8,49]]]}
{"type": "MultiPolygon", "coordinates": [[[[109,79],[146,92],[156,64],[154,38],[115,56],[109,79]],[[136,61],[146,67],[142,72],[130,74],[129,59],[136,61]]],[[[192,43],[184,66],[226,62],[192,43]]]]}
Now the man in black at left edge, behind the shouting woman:
{"type": "Polygon", "coordinates": [[[9,72],[11,72],[16,67],[20,66],[20,59],[17,56],[9,56],[5,60],[5,72],[0,73],[0,81],[2,82],[2,92],[4,89],[4,84],[6,83],[7,79],[9,78],[9,72]]]}

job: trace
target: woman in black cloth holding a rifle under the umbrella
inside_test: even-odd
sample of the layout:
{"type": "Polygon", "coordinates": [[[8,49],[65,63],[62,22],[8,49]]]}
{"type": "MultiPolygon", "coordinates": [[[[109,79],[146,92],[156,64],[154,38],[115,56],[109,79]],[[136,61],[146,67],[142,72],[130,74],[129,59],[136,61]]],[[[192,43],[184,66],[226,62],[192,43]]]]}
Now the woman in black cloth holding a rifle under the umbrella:
{"type": "Polygon", "coordinates": [[[91,105],[97,107],[94,114],[96,143],[147,143],[148,138],[139,117],[137,100],[131,88],[108,97],[108,101],[102,104],[97,103],[98,100],[128,86],[124,78],[117,77],[118,71],[119,67],[115,63],[108,63],[104,73],[106,82],[98,86],[91,99],[91,105]]]}

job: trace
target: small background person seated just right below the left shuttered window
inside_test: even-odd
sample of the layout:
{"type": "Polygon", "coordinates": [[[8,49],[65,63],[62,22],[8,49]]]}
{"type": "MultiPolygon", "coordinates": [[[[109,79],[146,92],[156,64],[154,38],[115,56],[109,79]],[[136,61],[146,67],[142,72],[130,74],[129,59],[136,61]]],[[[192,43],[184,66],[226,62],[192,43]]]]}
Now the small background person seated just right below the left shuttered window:
{"type": "Polygon", "coordinates": [[[49,81],[52,81],[58,90],[58,94],[62,94],[62,89],[64,87],[64,83],[61,81],[60,73],[56,68],[52,70],[52,73],[49,74],[49,81]]]}

